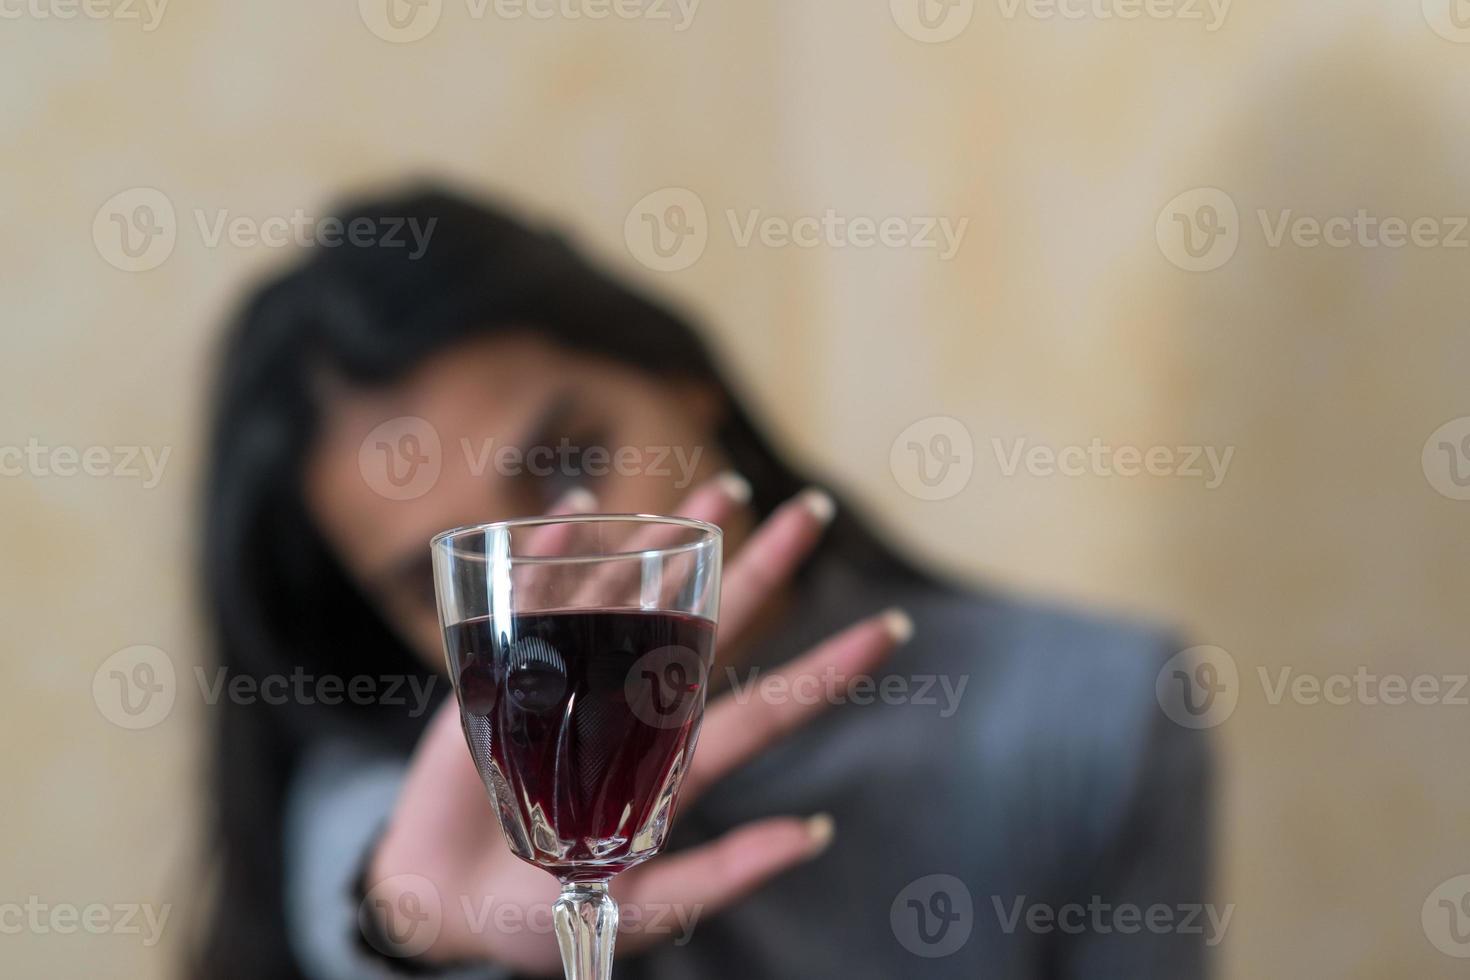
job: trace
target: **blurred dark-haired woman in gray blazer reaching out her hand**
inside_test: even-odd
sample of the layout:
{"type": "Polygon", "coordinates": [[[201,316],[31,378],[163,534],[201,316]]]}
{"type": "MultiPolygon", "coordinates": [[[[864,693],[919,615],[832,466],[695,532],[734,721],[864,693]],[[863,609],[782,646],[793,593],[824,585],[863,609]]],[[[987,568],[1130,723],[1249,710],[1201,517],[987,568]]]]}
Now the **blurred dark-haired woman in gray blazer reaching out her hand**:
{"type": "Polygon", "coordinates": [[[1208,754],[1155,702],[1166,635],[916,567],[772,448],[684,319],[556,235],[440,190],[340,217],[426,244],[307,250],[220,359],[215,644],[295,683],[215,710],[198,976],[559,971],[556,882],[507,849],[445,698],[428,539],[570,511],[726,532],[725,691],[670,846],[614,882],[620,977],[1204,973],[1197,932],[1032,914],[1207,901],[1208,754]],[[440,899],[419,942],[360,914],[426,915],[406,883],[440,899]]]}

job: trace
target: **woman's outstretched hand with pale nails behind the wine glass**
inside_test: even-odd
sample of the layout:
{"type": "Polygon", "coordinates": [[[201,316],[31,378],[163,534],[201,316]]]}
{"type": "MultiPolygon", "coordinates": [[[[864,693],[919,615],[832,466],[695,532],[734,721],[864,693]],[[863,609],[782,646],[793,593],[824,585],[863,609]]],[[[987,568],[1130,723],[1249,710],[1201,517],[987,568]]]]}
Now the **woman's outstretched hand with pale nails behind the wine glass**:
{"type": "MultiPolygon", "coordinates": [[[[697,488],[678,514],[720,525],[741,508],[748,485],[723,475],[697,488]]],[[[595,500],[573,491],[551,514],[585,513],[595,500]]],[[[719,644],[738,644],[757,611],[791,577],[831,520],[832,500],[808,489],[779,507],[726,561],[720,595],[719,644]]],[[[545,529],[556,533],[554,527],[545,529]]],[[[545,542],[538,542],[538,548],[545,542]]],[[[554,544],[551,545],[554,548],[554,544]]],[[[773,671],[779,683],[845,688],[872,671],[911,630],[889,610],[860,620],[773,671]]],[[[717,654],[716,654],[717,658],[717,654]]],[[[814,717],[828,698],[736,699],[709,705],[681,804],[814,717]]],[[[766,880],[820,854],[833,833],[823,814],[757,820],[682,852],[662,854],[614,880],[623,932],[619,954],[669,942],[694,920],[717,912],[766,880]]],[[[492,961],[522,973],[554,974],[560,954],[551,932],[559,884],[516,858],[470,761],[451,699],[432,718],[415,749],[394,814],[369,862],[375,902],[390,908],[438,909],[438,933],[428,949],[406,952],[438,962],[492,961]],[[419,892],[432,889],[432,895],[419,892]]],[[[422,914],[422,912],[420,912],[422,914]]],[[[392,951],[385,951],[392,952],[392,951]]]]}

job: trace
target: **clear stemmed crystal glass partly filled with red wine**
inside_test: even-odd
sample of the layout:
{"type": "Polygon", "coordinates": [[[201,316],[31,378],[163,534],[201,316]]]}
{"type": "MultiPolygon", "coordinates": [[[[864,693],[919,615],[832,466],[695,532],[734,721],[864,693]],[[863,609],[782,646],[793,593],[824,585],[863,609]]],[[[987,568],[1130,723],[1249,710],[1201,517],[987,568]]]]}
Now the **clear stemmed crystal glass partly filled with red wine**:
{"type": "Polygon", "coordinates": [[[698,739],[720,529],[537,517],[445,530],[431,550],[470,757],[512,852],[562,882],[567,980],[607,980],[609,882],[663,848],[698,739]]]}

